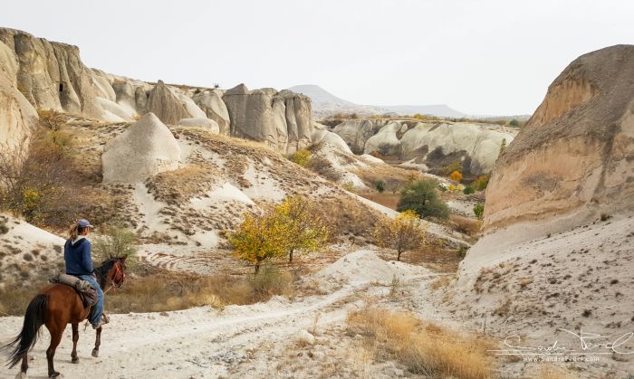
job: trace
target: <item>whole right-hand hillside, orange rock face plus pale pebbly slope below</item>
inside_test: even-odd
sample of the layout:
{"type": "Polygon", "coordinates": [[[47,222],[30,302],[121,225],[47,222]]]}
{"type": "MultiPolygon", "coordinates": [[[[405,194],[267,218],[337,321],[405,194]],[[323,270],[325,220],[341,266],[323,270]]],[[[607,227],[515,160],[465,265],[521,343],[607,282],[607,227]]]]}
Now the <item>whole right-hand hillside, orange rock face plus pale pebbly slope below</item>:
{"type": "Polygon", "coordinates": [[[634,46],[582,55],[497,161],[485,237],[451,295],[468,322],[548,344],[570,337],[562,329],[604,336],[597,344],[631,332],[632,78],[634,46]]]}

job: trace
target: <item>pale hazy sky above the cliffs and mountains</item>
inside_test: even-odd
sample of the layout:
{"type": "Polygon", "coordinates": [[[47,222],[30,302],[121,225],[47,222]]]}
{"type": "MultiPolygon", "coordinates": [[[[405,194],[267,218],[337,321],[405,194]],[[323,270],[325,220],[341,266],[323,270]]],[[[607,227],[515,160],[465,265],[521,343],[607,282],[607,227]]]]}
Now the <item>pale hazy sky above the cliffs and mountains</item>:
{"type": "Polygon", "coordinates": [[[634,1],[7,2],[0,25],[145,81],[283,89],[360,104],[532,113],[584,52],[634,43],[634,1]]]}

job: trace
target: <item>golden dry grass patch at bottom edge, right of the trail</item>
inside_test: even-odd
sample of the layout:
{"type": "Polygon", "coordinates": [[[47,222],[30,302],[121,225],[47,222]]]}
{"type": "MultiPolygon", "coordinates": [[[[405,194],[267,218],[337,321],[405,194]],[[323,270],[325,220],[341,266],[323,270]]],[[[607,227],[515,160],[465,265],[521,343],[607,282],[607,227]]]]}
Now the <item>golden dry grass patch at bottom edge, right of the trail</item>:
{"type": "Polygon", "coordinates": [[[458,334],[411,313],[381,308],[352,312],[347,324],[349,334],[364,337],[364,348],[374,349],[375,360],[396,360],[413,374],[466,379],[494,374],[494,360],[486,355],[494,345],[484,337],[458,334]]]}

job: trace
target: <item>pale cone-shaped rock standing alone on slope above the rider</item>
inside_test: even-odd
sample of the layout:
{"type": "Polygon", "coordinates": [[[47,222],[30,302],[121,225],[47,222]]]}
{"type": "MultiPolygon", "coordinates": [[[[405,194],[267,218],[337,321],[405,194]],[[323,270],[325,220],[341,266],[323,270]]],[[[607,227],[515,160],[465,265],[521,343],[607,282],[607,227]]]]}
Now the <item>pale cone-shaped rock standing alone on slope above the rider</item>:
{"type": "Polygon", "coordinates": [[[180,164],[180,147],[153,113],[110,140],[101,156],[103,183],[139,183],[180,164]]]}

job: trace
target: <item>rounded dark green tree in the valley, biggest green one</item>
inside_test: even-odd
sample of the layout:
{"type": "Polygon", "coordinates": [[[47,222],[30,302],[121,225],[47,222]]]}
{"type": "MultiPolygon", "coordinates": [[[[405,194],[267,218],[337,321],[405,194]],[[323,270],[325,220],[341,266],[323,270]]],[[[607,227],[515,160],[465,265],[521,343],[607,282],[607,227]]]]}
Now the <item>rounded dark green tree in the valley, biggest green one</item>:
{"type": "Polygon", "coordinates": [[[435,180],[420,180],[412,185],[407,185],[401,191],[397,211],[403,212],[408,209],[418,213],[421,218],[449,218],[447,204],[438,199],[435,180]]]}

